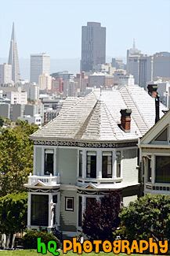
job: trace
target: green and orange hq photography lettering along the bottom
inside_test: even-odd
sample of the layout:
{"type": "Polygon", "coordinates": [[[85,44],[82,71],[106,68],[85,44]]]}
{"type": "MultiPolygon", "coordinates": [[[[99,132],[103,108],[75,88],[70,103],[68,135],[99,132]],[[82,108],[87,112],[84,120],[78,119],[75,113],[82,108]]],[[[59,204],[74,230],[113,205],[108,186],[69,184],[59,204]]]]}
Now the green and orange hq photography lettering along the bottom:
{"type": "MultiPolygon", "coordinates": [[[[41,242],[41,237],[37,239],[38,248],[37,252],[41,254],[47,254],[47,250],[53,255],[60,255],[59,251],[56,251],[56,242],[49,241],[48,246],[45,246],[45,243],[41,242]]],[[[114,254],[126,253],[133,254],[139,253],[143,254],[146,250],[149,250],[150,254],[166,254],[168,251],[168,240],[164,242],[159,241],[155,243],[153,238],[150,238],[149,241],[146,240],[133,240],[132,243],[129,243],[128,240],[114,240],[113,243],[105,240],[94,240],[89,241],[85,240],[84,243],[77,241],[77,238],[74,237],[72,241],[63,240],[63,254],[67,254],[69,250],[72,250],[75,254],[91,253],[94,251],[96,254],[99,254],[100,250],[103,250],[105,253],[113,252],[114,254]],[[102,248],[102,249],[101,249],[102,248]]]]}

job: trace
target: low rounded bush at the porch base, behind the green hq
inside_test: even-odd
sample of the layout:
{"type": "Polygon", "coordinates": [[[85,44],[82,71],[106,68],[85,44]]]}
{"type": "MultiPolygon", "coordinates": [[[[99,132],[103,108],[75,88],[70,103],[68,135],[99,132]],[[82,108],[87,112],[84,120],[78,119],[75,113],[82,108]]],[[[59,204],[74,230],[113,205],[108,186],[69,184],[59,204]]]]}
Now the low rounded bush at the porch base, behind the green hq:
{"type": "Polygon", "coordinates": [[[42,232],[42,231],[28,231],[26,235],[23,237],[23,246],[24,249],[37,249],[37,239],[41,237],[41,242],[45,243],[46,247],[49,241],[56,242],[56,248],[60,247],[60,241],[53,236],[51,233],[42,232]]]}

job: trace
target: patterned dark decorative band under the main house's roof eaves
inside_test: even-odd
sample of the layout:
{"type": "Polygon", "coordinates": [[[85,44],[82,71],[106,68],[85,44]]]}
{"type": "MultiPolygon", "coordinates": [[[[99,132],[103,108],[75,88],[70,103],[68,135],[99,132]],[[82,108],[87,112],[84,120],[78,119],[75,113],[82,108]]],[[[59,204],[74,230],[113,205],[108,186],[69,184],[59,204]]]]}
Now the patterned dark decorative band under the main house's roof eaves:
{"type": "Polygon", "coordinates": [[[94,147],[94,148],[116,148],[116,147],[136,147],[136,142],[128,143],[79,143],[71,141],[42,141],[35,140],[34,145],[63,146],[63,147],[94,147]]]}

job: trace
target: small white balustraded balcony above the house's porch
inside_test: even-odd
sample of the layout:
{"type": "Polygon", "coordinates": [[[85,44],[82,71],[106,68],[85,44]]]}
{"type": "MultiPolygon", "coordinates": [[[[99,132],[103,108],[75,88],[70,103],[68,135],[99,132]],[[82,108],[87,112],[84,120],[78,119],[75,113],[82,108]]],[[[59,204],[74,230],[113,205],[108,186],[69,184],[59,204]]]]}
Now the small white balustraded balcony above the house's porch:
{"type": "Polygon", "coordinates": [[[56,186],[57,184],[60,184],[60,176],[38,176],[38,175],[32,175],[30,173],[30,176],[28,176],[28,186],[34,186],[34,184],[38,181],[41,181],[41,183],[45,186],[56,186]]]}

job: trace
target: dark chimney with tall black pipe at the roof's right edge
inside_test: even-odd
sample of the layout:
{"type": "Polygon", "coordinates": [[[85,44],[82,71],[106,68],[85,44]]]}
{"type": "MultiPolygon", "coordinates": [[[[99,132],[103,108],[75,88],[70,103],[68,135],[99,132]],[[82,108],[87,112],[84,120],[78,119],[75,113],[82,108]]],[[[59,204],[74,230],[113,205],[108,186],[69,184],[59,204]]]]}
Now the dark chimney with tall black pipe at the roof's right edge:
{"type": "Polygon", "coordinates": [[[159,121],[159,95],[157,93],[157,85],[156,84],[148,84],[148,94],[155,98],[155,124],[159,121]]]}

